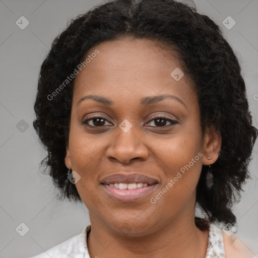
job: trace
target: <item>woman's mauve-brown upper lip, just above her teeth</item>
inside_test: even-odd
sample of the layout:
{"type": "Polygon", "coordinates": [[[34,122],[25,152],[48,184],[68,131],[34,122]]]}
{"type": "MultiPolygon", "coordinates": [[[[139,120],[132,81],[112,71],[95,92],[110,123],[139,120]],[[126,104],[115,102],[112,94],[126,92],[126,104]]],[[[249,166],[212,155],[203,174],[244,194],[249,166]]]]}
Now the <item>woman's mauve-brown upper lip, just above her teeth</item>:
{"type": "Polygon", "coordinates": [[[110,183],[148,183],[154,184],[158,181],[143,174],[113,174],[102,179],[102,184],[110,183]]]}

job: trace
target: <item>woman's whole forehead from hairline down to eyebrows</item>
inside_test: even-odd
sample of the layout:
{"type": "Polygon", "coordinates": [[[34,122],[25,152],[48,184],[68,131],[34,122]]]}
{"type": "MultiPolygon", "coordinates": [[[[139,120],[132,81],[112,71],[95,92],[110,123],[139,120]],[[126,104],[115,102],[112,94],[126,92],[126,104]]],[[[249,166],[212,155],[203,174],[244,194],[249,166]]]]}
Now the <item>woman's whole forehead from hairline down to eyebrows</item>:
{"type": "Polygon", "coordinates": [[[183,76],[176,81],[171,76],[175,69],[183,72],[177,56],[168,46],[148,39],[123,38],[98,44],[88,51],[87,65],[76,76],[74,98],[100,93],[119,96],[121,101],[121,95],[126,94],[174,93],[187,98],[192,95],[189,80],[183,76]],[[92,55],[96,49],[99,53],[92,55]]]}

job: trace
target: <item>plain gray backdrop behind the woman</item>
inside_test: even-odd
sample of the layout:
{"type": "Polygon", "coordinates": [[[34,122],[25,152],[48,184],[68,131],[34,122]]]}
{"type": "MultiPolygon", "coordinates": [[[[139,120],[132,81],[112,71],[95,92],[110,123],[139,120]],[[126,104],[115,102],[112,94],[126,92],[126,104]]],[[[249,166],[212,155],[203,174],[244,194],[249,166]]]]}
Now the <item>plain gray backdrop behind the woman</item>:
{"type": "MultiPolygon", "coordinates": [[[[1,258],[39,254],[79,234],[90,224],[84,205],[55,200],[57,191],[51,179],[39,170],[39,162],[46,153],[39,145],[32,122],[38,73],[52,40],[66,28],[68,20],[98,3],[102,1],[0,1],[1,258]],[[29,21],[24,30],[16,25],[21,16],[29,21]],[[20,126],[26,124],[22,119],[28,128],[20,126]],[[29,227],[25,236],[16,231],[22,222],[29,227]]],[[[196,0],[195,4],[199,13],[208,15],[221,26],[224,37],[234,49],[257,127],[258,1],[196,0]],[[228,16],[236,21],[231,29],[222,24],[228,16]]],[[[253,179],[245,185],[234,212],[238,219],[238,237],[258,253],[256,154],[257,143],[250,164],[253,179]]]]}

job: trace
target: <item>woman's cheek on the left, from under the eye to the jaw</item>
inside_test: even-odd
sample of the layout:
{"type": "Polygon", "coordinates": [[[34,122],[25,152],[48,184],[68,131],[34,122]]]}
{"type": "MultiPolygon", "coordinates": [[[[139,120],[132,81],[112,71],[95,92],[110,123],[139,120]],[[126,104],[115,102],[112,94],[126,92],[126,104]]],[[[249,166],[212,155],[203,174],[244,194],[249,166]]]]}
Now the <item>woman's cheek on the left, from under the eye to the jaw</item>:
{"type": "MultiPolygon", "coordinates": [[[[98,199],[99,171],[103,171],[101,160],[105,155],[105,146],[111,141],[106,136],[87,134],[82,125],[71,126],[69,149],[73,170],[80,176],[76,183],[78,193],[84,204],[93,207],[98,199]]],[[[95,204],[96,205],[96,204],[95,204]]]]}

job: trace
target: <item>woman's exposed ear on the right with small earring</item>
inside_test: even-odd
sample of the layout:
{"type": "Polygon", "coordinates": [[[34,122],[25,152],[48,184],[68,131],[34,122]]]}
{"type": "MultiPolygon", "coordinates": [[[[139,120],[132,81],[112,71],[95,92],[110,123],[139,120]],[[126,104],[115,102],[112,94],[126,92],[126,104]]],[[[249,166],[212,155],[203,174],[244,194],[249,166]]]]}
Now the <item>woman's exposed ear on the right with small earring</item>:
{"type": "Polygon", "coordinates": [[[204,145],[203,145],[203,164],[211,165],[219,157],[221,150],[221,136],[216,132],[215,128],[206,128],[204,135],[204,145]],[[211,159],[208,159],[208,158],[211,159]]]}

